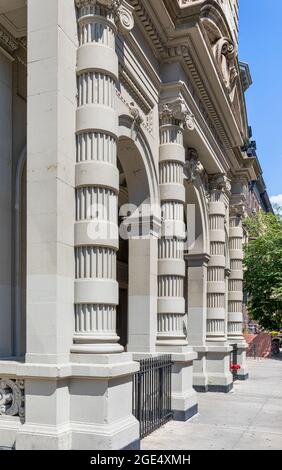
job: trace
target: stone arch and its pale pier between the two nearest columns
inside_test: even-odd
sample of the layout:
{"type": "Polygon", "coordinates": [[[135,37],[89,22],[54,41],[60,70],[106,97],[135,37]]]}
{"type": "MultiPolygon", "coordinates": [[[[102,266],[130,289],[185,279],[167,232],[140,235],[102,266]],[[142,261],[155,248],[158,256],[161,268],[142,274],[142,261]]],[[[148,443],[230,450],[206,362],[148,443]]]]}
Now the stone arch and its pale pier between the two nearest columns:
{"type": "Polygon", "coordinates": [[[142,129],[127,115],[119,119],[118,159],[125,174],[128,203],[137,207],[127,219],[131,230],[128,240],[127,350],[152,352],[157,335],[158,239],[154,231],[157,223],[154,211],[159,207],[158,173],[142,129]],[[149,218],[141,219],[142,236],[141,208],[142,215],[149,215],[149,218]]]}

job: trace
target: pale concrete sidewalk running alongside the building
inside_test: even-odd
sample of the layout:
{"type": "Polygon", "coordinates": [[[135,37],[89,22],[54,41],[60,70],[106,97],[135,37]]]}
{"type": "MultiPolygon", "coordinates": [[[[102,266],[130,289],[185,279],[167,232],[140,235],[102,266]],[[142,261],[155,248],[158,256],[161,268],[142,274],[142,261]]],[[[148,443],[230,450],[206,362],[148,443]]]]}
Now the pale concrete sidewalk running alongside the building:
{"type": "Polygon", "coordinates": [[[200,413],[171,421],[142,441],[144,450],[282,450],[282,354],[249,359],[250,379],[229,394],[198,394],[200,413]]]}

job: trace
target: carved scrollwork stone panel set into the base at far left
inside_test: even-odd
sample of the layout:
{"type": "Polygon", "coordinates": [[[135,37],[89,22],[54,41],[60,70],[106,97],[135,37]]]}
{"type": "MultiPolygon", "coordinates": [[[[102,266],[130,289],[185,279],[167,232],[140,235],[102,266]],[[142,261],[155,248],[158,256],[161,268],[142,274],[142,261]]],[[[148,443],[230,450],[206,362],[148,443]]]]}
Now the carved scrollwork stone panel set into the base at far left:
{"type": "Polygon", "coordinates": [[[24,381],[0,380],[0,416],[19,416],[24,419],[24,381]]]}

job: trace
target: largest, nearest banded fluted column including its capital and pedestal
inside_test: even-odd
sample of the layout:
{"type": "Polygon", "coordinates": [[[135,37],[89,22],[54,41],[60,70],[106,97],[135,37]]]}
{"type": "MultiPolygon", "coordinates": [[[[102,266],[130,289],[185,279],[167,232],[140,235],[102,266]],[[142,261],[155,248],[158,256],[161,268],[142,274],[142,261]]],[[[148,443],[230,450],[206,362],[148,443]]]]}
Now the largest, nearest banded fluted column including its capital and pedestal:
{"type": "Polygon", "coordinates": [[[76,0],[78,7],[75,168],[75,334],[70,384],[75,449],[139,446],[132,374],[139,368],[116,334],[118,250],[117,28],[132,29],[123,0],[76,0]],[[88,370],[89,374],[86,374],[88,370]],[[126,399],[124,399],[126,397],[126,399]]]}

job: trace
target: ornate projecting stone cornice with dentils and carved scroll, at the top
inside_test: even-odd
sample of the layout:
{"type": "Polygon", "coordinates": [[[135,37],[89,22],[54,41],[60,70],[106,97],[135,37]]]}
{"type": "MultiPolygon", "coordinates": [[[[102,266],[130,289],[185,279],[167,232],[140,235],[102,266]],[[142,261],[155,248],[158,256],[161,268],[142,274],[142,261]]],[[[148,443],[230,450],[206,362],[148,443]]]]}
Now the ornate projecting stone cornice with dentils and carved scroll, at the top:
{"type": "Polygon", "coordinates": [[[219,3],[130,0],[130,4],[159,62],[182,63],[216,140],[226,150],[242,146],[247,120],[237,45],[219,3]]]}

